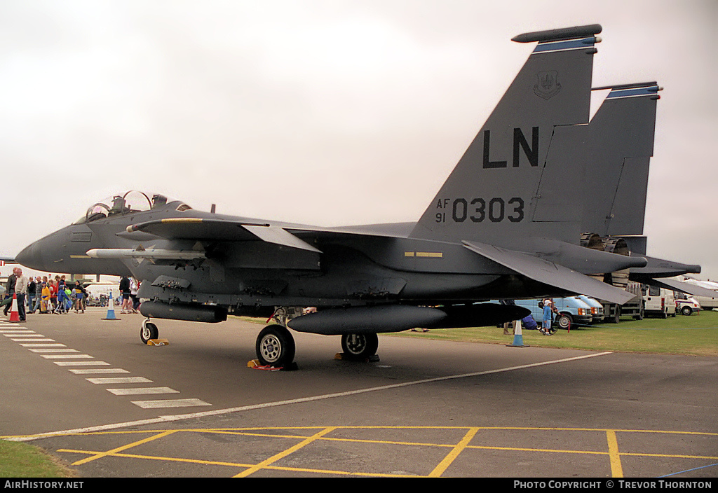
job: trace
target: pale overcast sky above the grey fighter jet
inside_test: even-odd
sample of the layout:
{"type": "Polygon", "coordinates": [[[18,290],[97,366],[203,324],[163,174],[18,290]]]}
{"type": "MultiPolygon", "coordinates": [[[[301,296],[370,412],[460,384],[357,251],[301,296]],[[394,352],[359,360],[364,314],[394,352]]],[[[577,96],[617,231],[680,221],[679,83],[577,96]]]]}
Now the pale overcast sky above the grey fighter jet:
{"type": "Polygon", "coordinates": [[[598,23],[594,86],[665,87],[648,254],[718,278],[717,6],[0,0],[0,255],[129,189],[322,226],[416,221],[533,49],[510,38],[598,23]]]}

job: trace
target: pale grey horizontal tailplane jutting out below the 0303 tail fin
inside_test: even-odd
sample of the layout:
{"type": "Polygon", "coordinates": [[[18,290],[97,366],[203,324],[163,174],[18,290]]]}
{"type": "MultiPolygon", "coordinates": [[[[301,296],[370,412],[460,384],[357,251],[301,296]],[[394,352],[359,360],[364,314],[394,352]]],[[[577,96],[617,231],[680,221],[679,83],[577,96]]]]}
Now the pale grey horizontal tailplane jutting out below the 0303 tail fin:
{"type": "Polygon", "coordinates": [[[532,255],[477,243],[476,241],[462,241],[462,243],[472,252],[508,267],[518,274],[569,292],[592,296],[599,300],[606,300],[619,305],[623,305],[635,297],[625,289],[613,287],[568,267],[554,264],[554,262],[548,262],[532,255]]]}

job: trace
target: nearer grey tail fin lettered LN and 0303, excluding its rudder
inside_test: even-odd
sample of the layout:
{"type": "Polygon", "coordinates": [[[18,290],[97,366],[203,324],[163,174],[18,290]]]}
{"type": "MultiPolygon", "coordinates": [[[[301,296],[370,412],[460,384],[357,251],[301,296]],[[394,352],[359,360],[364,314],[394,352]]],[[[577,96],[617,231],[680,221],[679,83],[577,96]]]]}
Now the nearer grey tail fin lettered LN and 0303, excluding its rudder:
{"type": "MultiPolygon", "coordinates": [[[[513,38],[538,45],[409,236],[508,247],[518,236],[578,241],[578,221],[538,222],[534,211],[556,128],[588,123],[600,32],[594,24],[513,38]]],[[[580,188],[580,179],[563,181],[580,188]]]]}

